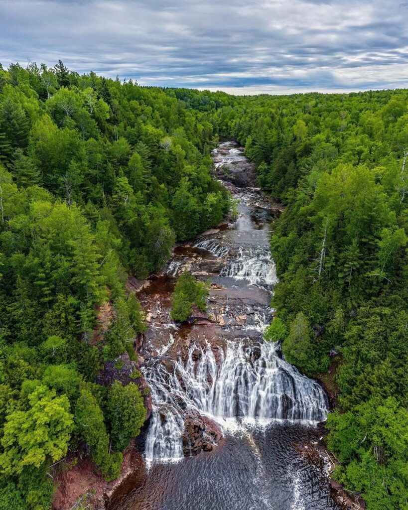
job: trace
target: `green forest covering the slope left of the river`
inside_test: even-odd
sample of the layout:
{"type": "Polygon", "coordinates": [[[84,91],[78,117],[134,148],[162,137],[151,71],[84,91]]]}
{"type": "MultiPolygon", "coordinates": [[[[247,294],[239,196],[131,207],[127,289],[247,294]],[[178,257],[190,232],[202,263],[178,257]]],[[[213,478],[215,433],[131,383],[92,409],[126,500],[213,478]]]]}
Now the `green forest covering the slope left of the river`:
{"type": "Polygon", "coordinates": [[[68,446],[119,473],[109,445],[139,433],[143,399],[94,381],[107,360],[136,358],[145,319],[127,275],[160,270],[176,241],[230,210],[208,156],[215,107],[207,92],[80,76],[61,60],[0,66],[0,507],[48,508],[47,469],[68,446]]]}

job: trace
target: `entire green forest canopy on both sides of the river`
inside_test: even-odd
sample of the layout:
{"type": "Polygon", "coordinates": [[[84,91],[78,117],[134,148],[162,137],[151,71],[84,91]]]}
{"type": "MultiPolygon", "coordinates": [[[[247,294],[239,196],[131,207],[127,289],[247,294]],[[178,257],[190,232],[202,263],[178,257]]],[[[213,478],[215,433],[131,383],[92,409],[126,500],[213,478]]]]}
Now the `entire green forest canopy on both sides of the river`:
{"type": "Polygon", "coordinates": [[[145,419],[135,382],[97,384],[145,328],[127,274],[219,223],[210,151],[234,137],[286,210],[266,337],[309,375],[334,352],[336,476],[369,510],[408,499],[408,91],[234,97],[0,66],[0,509],[43,510],[49,467],[107,478],[145,419]],[[112,308],[101,334],[100,309],[112,308]]]}

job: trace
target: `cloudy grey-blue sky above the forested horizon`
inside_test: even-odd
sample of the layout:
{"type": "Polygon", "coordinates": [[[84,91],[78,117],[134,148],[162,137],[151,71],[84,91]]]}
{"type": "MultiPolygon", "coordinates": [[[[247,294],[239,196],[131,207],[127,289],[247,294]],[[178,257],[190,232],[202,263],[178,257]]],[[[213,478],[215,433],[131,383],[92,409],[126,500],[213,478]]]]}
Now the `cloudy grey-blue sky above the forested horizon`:
{"type": "Polygon", "coordinates": [[[408,87],[408,2],[0,0],[0,62],[234,94],[408,87]]]}

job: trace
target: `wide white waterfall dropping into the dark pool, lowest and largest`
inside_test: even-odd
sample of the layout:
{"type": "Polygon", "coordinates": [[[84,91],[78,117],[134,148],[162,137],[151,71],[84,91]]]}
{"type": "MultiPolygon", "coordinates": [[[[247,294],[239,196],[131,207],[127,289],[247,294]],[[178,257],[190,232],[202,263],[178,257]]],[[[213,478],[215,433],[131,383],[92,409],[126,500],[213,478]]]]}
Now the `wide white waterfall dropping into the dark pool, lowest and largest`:
{"type": "Polygon", "coordinates": [[[144,367],[154,409],[145,454],[148,461],[183,457],[186,410],[197,410],[227,427],[228,419],[266,424],[274,419],[316,423],[326,419],[327,398],[316,381],[282,360],[273,343],[230,341],[224,349],[192,345],[168,371],[144,367]]]}

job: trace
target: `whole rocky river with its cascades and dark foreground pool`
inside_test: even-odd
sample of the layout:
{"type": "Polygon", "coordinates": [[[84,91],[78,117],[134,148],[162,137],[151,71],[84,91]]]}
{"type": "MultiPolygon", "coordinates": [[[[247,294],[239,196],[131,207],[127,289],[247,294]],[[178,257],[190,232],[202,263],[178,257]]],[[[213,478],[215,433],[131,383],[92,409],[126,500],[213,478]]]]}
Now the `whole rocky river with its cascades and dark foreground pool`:
{"type": "Polygon", "coordinates": [[[241,177],[253,167],[235,142],[213,151],[239,216],[174,249],[164,275],[139,292],[149,328],[140,345],[152,392],[145,468],[112,498],[115,510],[328,510],[323,463],[310,462],[327,398],[263,341],[276,284],[273,209],[241,177]],[[174,324],[175,277],[211,284],[207,313],[174,324]]]}

